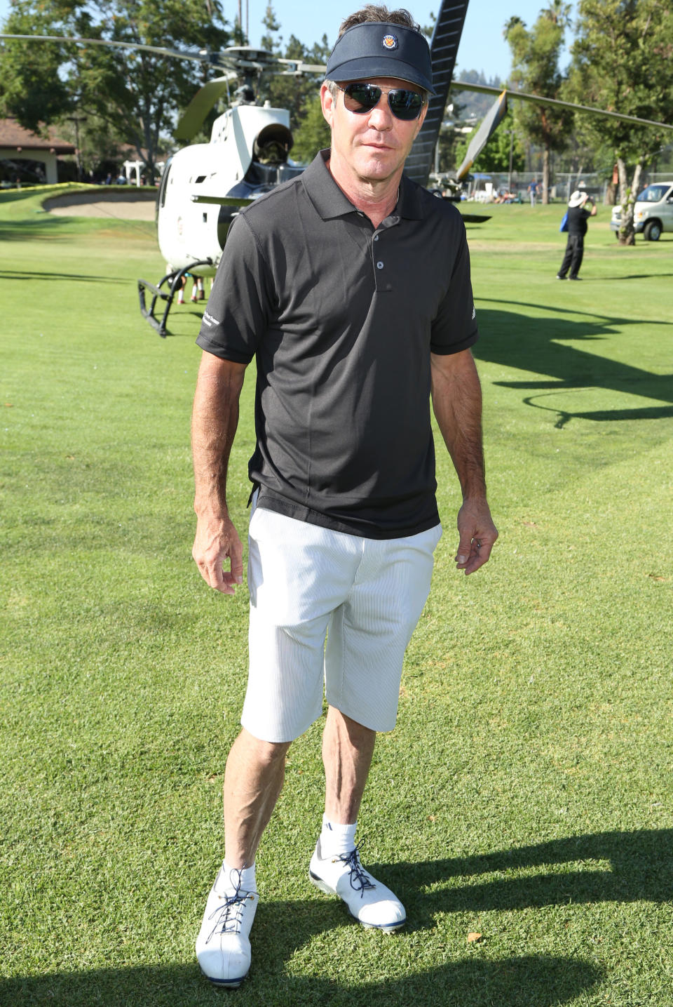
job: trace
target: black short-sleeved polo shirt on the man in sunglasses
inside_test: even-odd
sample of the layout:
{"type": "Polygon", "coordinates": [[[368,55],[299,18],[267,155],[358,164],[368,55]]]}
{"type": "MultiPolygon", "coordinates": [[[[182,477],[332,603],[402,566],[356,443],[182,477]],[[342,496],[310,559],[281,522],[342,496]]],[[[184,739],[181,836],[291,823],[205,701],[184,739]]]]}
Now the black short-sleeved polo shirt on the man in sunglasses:
{"type": "Polygon", "coordinates": [[[439,521],[430,354],[478,337],[465,227],[403,177],[374,230],[322,151],[238,214],[198,344],[257,356],[259,506],[368,538],[439,521]]]}

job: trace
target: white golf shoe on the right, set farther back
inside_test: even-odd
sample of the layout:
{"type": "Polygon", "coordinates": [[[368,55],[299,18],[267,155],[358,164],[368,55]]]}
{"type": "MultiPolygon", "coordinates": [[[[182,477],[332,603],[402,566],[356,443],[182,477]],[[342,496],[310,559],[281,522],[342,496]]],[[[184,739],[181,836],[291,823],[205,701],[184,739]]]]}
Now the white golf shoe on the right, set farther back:
{"type": "Polygon", "coordinates": [[[318,840],[309,878],[321,891],[343,899],[350,914],[363,926],[391,933],[406,922],[404,906],[389,888],[363,869],[357,849],[323,857],[318,840]]]}

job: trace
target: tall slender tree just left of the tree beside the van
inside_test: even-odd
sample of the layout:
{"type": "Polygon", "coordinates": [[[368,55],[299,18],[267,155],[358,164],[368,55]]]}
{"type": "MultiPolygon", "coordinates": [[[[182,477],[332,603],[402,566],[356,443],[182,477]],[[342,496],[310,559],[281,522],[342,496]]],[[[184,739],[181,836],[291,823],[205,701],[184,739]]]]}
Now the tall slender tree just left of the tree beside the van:
{"type": "MultiPolygon", "coordinates": [[[[512,83],[520,91],[544,98],[560,97],[563,79],[558,69],[558,56],[567,16],[567,4],[552,0],[550,7],[540,12],[530,31],[519,17],[511,17],[505,25],[504,34],[514,63],[512,83]]],[[[518,106],[517,126],[530,142],[539,144],[543,150],[542,202],[546,203],[549,201],[549,155],[552,150],[563,149],[572,113],[524,102],[519,102],[518,106]]]]}

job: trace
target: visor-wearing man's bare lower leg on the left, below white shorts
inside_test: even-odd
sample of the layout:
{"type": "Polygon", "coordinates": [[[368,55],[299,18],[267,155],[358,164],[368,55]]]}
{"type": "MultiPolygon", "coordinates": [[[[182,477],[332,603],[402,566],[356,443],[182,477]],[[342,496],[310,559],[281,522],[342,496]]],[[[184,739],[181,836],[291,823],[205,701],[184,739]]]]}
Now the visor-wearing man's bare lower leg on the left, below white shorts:
{"type": "Polygon", "coordinates": [[[261,741],[243,727],[224,771],[224,859],[240,869],[255,863],[285,779],[290,742],[261,741]]]}

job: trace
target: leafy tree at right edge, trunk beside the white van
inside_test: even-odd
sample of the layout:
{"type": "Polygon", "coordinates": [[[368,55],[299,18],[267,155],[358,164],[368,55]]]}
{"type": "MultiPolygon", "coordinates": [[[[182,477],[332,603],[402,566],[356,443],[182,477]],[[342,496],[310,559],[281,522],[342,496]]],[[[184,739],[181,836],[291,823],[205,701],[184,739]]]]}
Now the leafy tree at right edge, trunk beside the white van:
{"type": "MultiPolygon", "coordinates": [[[[584,105],[660,122],[673,117],[673,12],[665,0],[580,0],[571,88],[584,105]]],[[[595,145],[609,143],[619,171],[620,243],[633,245],[634,203],[650,158],[668,131],[580,117],[595,145]],[[628,165],[633,165],[631,184],[628,165]]]]}

